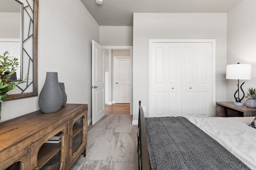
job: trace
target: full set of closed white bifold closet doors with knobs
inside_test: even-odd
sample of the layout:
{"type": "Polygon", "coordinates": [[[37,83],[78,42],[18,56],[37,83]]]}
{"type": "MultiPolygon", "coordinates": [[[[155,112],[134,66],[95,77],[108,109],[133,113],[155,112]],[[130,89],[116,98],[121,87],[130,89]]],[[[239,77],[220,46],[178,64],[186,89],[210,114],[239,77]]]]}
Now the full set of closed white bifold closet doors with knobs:
{"type": "Polygon", "coordinates": [[[212,116],[212,43],[152,43],[149,116],[212,116]]]}

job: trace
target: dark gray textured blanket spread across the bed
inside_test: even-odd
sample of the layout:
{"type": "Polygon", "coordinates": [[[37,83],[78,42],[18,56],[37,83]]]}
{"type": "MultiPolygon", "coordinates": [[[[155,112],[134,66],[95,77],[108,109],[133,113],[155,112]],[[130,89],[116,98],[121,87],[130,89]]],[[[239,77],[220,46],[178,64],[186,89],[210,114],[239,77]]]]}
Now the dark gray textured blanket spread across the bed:
{"type": "Polygon", "coordinates": [[[249,170],[185,117],[145,118],[152,170],[249,170]]]}

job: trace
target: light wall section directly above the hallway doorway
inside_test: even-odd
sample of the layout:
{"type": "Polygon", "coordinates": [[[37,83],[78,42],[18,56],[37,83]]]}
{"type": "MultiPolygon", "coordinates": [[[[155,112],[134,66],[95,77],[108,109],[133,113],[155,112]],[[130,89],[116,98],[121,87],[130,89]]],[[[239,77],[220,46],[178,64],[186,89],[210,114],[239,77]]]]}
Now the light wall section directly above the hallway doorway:
{"type": "Polygon", "coordinates": [[[132,26],[100,26],[100,45],[132,46],[132,26]]]}

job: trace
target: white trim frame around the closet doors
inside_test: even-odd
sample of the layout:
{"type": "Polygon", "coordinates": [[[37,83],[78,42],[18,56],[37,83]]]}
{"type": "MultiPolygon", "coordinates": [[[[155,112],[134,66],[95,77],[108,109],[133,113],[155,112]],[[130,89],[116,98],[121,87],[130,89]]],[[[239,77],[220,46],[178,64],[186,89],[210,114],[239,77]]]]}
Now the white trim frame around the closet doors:
{"type": "MultiPolygon", "coordinates": [[[[149,57],[151,58],[152,43],[212,43],[212,116],[215,117],[216,109],[216,40],[215,39],[149,39],[149,57]]],[[[150,73],[150,60],[148,62],[148,72],[150,73]]],[[[149,88],[150,93],[150,76],[149,88]]],[[[150,100],[150,99],[149,99],[150,100]]],[[[150,109],[150,108],[149,108],[150,109]]]]}

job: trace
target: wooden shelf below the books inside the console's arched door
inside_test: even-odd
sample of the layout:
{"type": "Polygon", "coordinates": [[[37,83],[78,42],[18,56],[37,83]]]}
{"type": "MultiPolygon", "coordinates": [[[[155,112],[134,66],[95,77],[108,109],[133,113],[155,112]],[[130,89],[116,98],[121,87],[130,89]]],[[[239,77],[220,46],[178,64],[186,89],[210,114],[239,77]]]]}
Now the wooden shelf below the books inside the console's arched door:
{"type": "Polygon", "coordinates": [[[44,143],[38,152],[37,166],[42,168],[61,149],[60,143],[44,143]]]}

